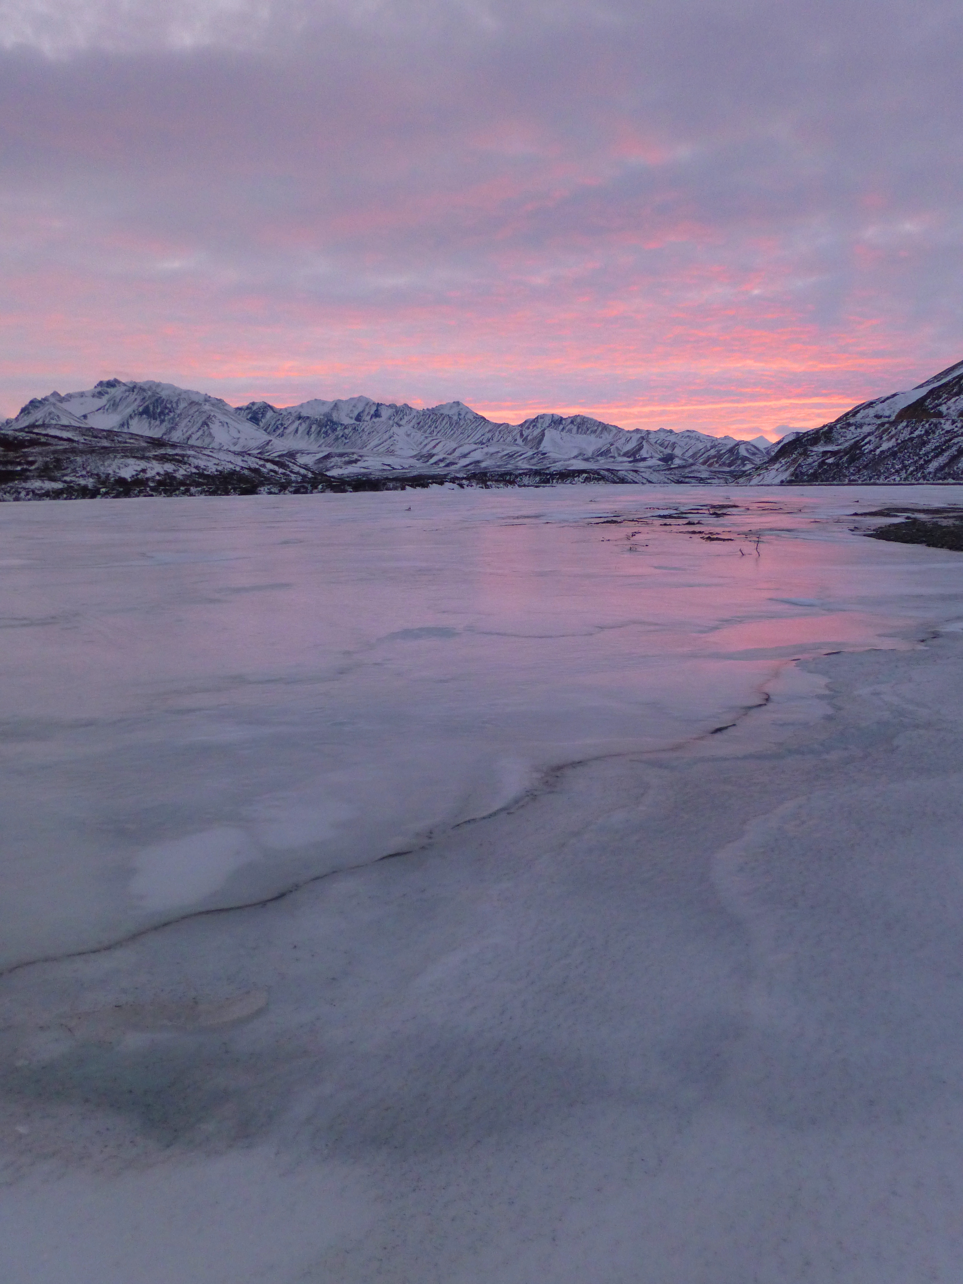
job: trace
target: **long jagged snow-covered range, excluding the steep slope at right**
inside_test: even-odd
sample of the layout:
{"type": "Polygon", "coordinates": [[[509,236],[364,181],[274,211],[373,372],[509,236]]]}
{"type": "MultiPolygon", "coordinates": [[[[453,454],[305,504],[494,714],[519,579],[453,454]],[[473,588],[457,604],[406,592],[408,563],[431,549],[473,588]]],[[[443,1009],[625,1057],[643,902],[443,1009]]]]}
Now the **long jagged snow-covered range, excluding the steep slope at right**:
{"type": "MultiPolygon", "coordinates": [[[[747,478],[769,449],[759,440],[740,442],[695,431],[627,431],[586,415],[537,415],[519,425],[497,424],[461,402],[416,410],[352,397],[285,408],[267,402],[232,407],[218,397],[173,384],[119,379],[104,380],[86,392],[50,393],[28,402],[3,425],[4,435],[49,437],[53,430],[60,433],[56,440],[62,444],[56,449],[62,473],[73,469],[82,485],[94,484],[94,473],[107,485],[114,466],[130,471],[132,456],[125,452],[132,447],[110,434],[154,438],[158,447],[164,443],[227,456],[225,467],[247,469],[249,483],[257,475],[262,478],[258,484],[271,489],[317,489],[338,480],[352,488],[406,480],[422,484],[734,482],[747,478]],[[65,431],[76,434],[67,453],[65,431]],[[95,452],[96,458],[91,456],[83,464],[85,452],[95,452]],[[67,455],[73,460],[69,467],[67,455]],[[90,473],[86,482],[85,469],[90,473]]],[[[55,447],[48,443],[45,449],[49,455],[55,447]]],[[[146,458],[143,453],[139,457],[146,458]]],[[[160,455],[153,455],[152,460],[152,467],[160,467],[160,455]]],[[[207,466],[195,462],[202,471],[207,466]]],[[[181,461],[177,467],[181,465],[189,466],[181,461]]],[[[19,497],[27,484],[22,470],[18,476],[18,493],[10,497],[19,497]]],[[[119,474],[118,478],[123,480],[119,474]]],[[[4,485],[0,482],[0,498],[4,485]]]]}

